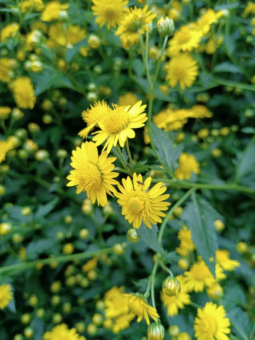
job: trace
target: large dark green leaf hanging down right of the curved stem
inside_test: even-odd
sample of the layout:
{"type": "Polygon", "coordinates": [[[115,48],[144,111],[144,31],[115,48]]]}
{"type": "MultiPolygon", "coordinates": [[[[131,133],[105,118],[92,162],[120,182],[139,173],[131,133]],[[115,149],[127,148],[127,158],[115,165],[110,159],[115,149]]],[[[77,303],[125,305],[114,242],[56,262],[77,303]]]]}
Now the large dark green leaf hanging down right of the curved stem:
{"type": "Polygon", "coordinates": [[[210,257],[215,258],[215,251],[218,248],[214,221],[222,217],[196,193],[192,194],[192,199],[193,202],[184,208],[181,219],[191,229],[198,255],[202,256],[215,277],[215,262],[210,261],[210,257]]]}

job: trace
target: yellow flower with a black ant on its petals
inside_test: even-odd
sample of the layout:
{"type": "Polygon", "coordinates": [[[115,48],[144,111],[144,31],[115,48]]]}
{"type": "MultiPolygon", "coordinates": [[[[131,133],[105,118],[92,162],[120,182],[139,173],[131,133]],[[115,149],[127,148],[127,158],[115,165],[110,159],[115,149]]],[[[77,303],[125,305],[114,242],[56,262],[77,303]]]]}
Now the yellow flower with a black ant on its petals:
{"type": "Polygon", "coordinates": [[[128,176],[127,179],[122,179],[122,184],[118,184],[121,192],[115,192],[114,195],[119,198],[117,202],[122,206],[122,215],[133,227],[138,229],[142,221],[151,228],[151,224],[162,222],[161,217],[166,214],[161,210],[167,210],[170,203],[163,202],[169,198],[168,194],[162,195],[166,191],[166,187],[161,188],[162,183],[157,183],[153,188],[149,189],[151,177],[148,177],[144,183],[142,175],[133,174],[133,184],[128,176]]]}

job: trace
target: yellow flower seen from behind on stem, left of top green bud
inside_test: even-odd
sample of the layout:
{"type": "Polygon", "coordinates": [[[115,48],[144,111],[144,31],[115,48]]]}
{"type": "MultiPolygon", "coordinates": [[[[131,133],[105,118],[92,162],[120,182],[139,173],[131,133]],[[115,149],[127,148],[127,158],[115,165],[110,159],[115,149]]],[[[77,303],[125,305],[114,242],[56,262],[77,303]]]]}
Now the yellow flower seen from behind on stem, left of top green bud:
{"type": "Polygon", "coordinates": [[[139,32],[145,34],[149,30],[148,24],[156,18],[157,14],[152,14],[148,10],[149,5],[143,8],[134,7],[128,8],[125,15],[122,17],[119,23],[119,27],[116,31],[116,35],[120,35],[121,41],[127,47],[138,43],[139,32]]]}

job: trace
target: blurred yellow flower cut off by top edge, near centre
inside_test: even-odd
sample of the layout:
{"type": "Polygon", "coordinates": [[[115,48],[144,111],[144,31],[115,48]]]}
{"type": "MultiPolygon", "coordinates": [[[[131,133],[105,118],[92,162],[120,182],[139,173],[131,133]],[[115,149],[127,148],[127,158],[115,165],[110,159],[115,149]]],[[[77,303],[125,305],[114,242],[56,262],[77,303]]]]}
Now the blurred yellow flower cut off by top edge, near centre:
{"type": "Polygon", "coordinates": [[[95,22],[102,27],[107,22],[107,29],[116,28],[123,17],[128,0],[92,0],[91,9],[97,15],[95,22]]]}

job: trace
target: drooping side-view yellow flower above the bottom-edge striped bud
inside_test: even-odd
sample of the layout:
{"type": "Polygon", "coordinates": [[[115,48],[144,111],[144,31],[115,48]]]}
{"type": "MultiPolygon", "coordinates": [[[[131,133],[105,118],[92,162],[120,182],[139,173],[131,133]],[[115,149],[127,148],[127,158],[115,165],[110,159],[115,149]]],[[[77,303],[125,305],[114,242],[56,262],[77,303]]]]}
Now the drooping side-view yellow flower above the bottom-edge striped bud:
{"type": "Polygon", "coordinates": [[[129,311],[138,316],[137,322],[141,322],[144,318],[147,322],[147,325],[150,324],[149,316],[154,320],[157,321],[157,318],[160,318],[157,310],[150,306],[144,295],[141,293],[128,293],[124,294],[124,296],[128,297],[128,308],[129,311]]]}

